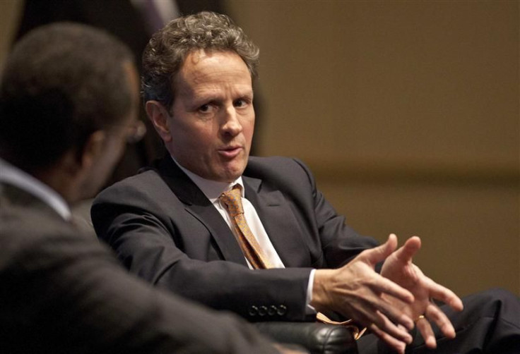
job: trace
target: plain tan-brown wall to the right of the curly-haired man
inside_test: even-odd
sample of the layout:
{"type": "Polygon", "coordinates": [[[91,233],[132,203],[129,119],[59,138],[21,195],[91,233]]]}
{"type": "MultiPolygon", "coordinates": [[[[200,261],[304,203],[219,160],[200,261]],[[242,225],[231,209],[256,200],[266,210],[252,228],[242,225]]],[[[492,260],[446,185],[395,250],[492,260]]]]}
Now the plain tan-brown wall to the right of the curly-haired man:
{"type": "Polygon", "coordinates": [[[519,1],[240,1],[259,154],[299,157],[361,233],[418,234],[461,295],[520,295],[519,1]]]}

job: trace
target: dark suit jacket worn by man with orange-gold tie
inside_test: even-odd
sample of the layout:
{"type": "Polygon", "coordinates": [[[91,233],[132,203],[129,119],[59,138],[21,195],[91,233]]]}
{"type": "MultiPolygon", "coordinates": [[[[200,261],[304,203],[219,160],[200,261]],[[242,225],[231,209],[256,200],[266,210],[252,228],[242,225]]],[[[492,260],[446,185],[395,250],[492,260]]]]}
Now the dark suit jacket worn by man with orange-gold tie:
{"type": "Polygon", "coordinates": [[[243,181],[286,269],[250,270],[222,216],[169,156],[102,191],[93,224],[151,283],[251,321],[309,319],[311,269],[339,267],[377,243],[345,226],[300,161],[250,157],[243,181]]]}

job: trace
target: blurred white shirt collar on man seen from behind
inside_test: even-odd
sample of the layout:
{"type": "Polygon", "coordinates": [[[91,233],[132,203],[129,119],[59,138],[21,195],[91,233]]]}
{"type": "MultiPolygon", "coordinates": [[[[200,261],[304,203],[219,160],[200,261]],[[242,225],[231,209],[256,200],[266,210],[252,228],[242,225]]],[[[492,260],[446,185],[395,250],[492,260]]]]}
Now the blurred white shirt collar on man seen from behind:
{"type": "Polygon", "coordinates": [[[63,219],[71,219],[71,209],[59,193],[3,159],[0,159],[0,182],[9,183],[25,190],[52,207],[63,219]]]}

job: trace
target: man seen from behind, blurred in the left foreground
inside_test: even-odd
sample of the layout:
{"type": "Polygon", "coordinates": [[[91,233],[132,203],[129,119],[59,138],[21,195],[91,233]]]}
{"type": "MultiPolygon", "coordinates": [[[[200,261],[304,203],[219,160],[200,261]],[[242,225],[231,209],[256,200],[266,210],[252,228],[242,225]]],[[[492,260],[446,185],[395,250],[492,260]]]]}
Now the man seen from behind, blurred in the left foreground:
{"type": "Polygon", "coordinates": [[[86,25],[36,29],[0,102],[1,353],[279,353],[242,320],[131,276],[73,225],[69,203],[143,135],[124,44],[86,25]]]}

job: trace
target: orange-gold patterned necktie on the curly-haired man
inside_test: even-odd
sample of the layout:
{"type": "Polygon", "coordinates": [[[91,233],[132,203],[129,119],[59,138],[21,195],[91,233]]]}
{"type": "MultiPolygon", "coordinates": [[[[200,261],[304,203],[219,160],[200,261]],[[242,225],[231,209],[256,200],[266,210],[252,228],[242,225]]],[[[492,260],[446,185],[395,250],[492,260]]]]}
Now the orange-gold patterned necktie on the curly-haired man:
{"type": "Polygon", "coordinates": [[[247,225],[242,207],[242,187],[239,184],[233,186],[228,192],[222,193],[218,198],[228,209],[231,224],[235,229],[235,236],[242,252],[254,269],[272,268],[271,263],[262,252],[261,247],[247,225]]]}

